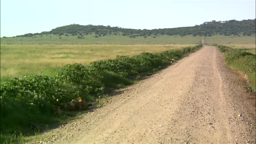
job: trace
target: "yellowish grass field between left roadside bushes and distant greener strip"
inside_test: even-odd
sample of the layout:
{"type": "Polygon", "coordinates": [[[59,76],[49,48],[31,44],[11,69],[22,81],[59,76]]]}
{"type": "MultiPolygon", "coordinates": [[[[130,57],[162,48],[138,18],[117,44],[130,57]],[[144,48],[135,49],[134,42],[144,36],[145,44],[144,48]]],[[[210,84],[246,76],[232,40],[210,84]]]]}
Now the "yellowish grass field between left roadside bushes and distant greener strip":
{"type": "Polygon", "coordinates": [[[113,59],[116,55],[136,55],[192,46],[183,45],[3,45],[1,83],[26,75],[54,76],[67,64],[113,59]]]}

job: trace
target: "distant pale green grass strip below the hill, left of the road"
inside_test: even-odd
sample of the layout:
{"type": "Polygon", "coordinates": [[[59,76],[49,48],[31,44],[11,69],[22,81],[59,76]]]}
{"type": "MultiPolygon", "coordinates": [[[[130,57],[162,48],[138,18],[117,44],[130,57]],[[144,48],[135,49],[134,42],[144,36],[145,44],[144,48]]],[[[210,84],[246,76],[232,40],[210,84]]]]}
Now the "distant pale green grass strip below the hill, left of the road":
{"type": "Polygon", "coordinates": [[[1,38],[1,44],[199,44],[199,36],[167,36],[161,35],[130,38],[122,35],[107,35],[98,38],[94,35],[84,35],[84,38],[77,36],[42,35],[35,37],[6,37],[1,38]],[[61,38],[60,38],[61,37],[61,38]]]}

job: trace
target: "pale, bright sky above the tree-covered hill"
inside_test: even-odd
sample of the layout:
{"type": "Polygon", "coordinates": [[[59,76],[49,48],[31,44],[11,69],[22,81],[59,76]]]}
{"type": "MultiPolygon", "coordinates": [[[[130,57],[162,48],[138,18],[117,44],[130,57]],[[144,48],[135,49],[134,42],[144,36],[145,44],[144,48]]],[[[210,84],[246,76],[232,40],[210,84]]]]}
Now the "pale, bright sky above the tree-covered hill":
{"type": "Polygon", "coordinates": [[[1,37],[70,25],[174,28],[255,19],[255,0],[1,0],[1,37]]]}

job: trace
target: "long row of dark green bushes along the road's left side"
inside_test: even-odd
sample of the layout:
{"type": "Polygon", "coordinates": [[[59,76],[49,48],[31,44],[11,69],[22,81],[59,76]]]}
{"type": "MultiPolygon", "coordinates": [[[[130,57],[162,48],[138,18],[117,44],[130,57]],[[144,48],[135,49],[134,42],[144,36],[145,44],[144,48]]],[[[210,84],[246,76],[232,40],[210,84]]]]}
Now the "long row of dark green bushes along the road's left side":
{"type": "Polygon", "coordinates": [[[67,115],[53,113],[54,106],[81,97],[96,101],[106,91],[132,84],[195,52],[202,45],[159,53],[117,56],[84,66],[68,64],[54,77],[31,75],[1,84],[1,143],[23,143],[25,136],[43,131],[67,115]],[[111,81],[110,81],[111,79],[111,81]],[[33,125],[42,125],[35,129],[33,125]]]}

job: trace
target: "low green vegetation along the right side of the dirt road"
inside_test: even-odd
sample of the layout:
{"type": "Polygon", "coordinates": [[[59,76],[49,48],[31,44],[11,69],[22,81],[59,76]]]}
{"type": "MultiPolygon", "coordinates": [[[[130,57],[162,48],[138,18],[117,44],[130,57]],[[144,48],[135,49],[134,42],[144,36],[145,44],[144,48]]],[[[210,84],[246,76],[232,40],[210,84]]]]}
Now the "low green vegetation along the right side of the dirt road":
{"type": "MultiPolygon", "coordinates": [[[[249,86],[246,88],[246,91],[251,91],[256,89],[255,85],[255,53],[242,49],[232,49],[229,46],[218,45],[218,48],[221,52],[225,54],[225,61],[230,67],[235,68],[236,70],[242,71],[246,74],[249,79],[249,86]]],[[[255,50],[255,48],[254,48],[255,50]]]]}

